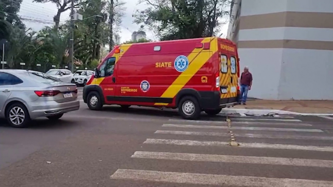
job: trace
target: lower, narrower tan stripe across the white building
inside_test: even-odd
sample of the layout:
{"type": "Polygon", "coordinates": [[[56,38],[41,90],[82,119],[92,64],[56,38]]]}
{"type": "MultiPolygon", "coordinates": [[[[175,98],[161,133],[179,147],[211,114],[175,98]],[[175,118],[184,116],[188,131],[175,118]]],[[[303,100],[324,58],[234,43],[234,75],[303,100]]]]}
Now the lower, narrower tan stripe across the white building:
{"type": "Polygon", "coordinates": [[[238,41],[237,47],[333,50],[333,42],[309,41],[309,40],[253,40],[253,41],[238,41]]]}

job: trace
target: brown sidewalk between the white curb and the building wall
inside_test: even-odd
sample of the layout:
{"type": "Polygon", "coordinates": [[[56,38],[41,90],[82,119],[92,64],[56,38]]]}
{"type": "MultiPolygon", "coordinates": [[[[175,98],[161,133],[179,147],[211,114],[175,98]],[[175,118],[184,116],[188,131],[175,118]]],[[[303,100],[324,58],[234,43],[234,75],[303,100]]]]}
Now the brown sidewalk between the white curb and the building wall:
{"type": "Polygon", "coordinates": [[[246,104],[237,105],[230,109],[276,109],[299,113],[333,114],[333,101],[249,100],[246,104]]]}

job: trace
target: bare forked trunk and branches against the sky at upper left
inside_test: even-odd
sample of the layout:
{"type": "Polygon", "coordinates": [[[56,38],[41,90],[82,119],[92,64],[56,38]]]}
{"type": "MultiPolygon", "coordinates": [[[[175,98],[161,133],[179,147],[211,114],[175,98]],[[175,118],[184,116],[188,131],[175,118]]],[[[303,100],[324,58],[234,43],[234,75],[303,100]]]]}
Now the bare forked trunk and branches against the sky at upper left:
{"type": "MultiPolygon", "coordinates": [[[[46,3],[46,2],[53,2],[54,4],[57,5],[58,7],[58,12],[57,15],[53,17],[53,21],[55,23],[55,30],[57,31],[59,28],[59,22],[60,22],[60,16],[61,13],[69,10],[71,8],[71,0],[33,0],[34,2],[41,2],[41,3],[46,3]]],[[[83,0],[74,0],[74,8],[79,8],[79,5],[83,3],[83,0]]]]}

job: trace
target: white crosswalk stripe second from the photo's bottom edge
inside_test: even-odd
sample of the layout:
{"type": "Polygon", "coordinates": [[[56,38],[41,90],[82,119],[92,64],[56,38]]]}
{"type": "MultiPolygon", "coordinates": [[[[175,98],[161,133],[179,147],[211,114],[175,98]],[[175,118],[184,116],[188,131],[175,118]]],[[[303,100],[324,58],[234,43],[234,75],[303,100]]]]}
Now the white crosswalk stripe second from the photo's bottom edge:
{"type": "Polygon", "coordinates": [[[231,163],[244,163],[244,164],[270,164],[270,165],[284,165],[284,166],[333,168],[333,161],[331,160],[300,159],[300,158],[207,155],[207,154],[192,154],[192,153],[165,153],[165,152],[143,152],[143,151],[137,151],[131,157],[196,161],[196,162],[231,162],[231,163]]]}

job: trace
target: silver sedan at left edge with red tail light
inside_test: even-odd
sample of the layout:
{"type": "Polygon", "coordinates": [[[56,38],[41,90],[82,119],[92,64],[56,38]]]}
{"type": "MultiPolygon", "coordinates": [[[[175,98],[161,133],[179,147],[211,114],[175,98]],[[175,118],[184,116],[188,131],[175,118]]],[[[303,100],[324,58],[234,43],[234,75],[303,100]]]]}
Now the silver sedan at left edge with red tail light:
{"type": "Polygon", "coordinates": [[[78,110],[75,84],[30,70],[0,70],[0,117],[13,127],[25,127],[31,119],[57,120],[78,110]]]}

